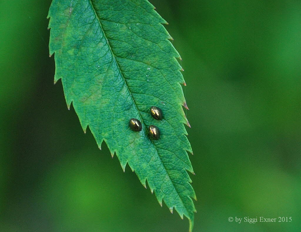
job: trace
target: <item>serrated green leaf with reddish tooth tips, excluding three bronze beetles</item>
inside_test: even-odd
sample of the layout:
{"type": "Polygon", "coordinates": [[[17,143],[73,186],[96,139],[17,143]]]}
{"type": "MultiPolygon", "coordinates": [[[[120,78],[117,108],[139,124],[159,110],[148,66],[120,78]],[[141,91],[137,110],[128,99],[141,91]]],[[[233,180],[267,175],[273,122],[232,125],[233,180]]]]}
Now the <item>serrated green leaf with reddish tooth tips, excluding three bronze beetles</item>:
{"type": "Polygon", "coordinates": [[[166,21],[146,0],[53,0],[48,17],[54,82],[62,80],[68,108],[72,102],[83,130],[89,126],[98,146],[105,141],[123,170],[128,163],[192,230],[185,82],[166,21]],[[162,110],[162,120],[151,116],[151,106],[162,110]],[[141,121],[140,132],[129,128],[131,118],[141,121]],[[159,140],[150,139],[149,125],[160,129],[159,140]]]}

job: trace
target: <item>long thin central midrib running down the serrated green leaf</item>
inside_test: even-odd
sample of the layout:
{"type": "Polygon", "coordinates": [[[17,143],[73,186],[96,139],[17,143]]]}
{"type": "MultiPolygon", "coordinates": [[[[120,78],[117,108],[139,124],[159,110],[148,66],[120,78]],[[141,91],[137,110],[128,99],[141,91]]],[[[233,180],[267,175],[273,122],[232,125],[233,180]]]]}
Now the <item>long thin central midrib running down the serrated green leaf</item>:
{"type": "MultiPolygon", "coordinates": [[[[79,1],[80,1],[80,0],[79,0],[79,1]]],[[[140,111],[138,110],[138,107],[137,107],[137,105],[136,105],[136,102],[135,102],[135,100],[134,100],[134,97],[132,96],[132,93],[131,93],[131,91],[129,90],[129,87],[128,87],[128,85],[127,85],[126,79],[124,78],[123,73],[122,73],[122,71],[121,71],[121,69],[120,69],[120,67],[119,67],[119,64],[118,64],[118,62],[117,62],[117,60],[116,60],[115,54],[114,54],[113,51],[112,51],[112,48],[111,48],[110,43],[109,43],[109,40],[107,39],[106,33],[104,32],[104,29],[103,29],[103,27],[102,27],[102,24],[101,24],[101,21],[100,21],[100,17],[98,17],[98,14],[97,14],[96,11],[95,11],[95,8],[94,8],[94,5],[93,5],[93,3],[92,3],[92,0],[88,0],[88,1],[89,1],[89,3],[91,4],[91,7],[92,7],[92,9],[93,9],[93,11],[94,11],[95,17],[96,17],[97,20],[98,20],[98,23],[99,23],[99,25],[100,25],[100,28],[101,28],[102,32],[104,33],[104,37],[105,37],[105,39],[106,39],[106,41],[107,41],[107,45],[108,45],[109,48],[110,48],[111,54],[112,54],[112,56],[113,56],[113,59],[114,59],[115,62],[116,62],[116,65],[117,65],[117,67],[118,67],[118,70],[119,70],[119,72],[120,72],[120,74],[121,74],[121,76],[122,76],[122,78],[123,78],[123,80],[124,80],[124,83],[125,83],[125,85],[126,85],[126,88],[128,89],[129,94],[130,94],[131,97],[132,97],[132,100],[133,100],[133,102],[134,102],[134,105],[135,105],[136,110],[138,111],[138,114],[139,114],[139,116],[140,116],[140,118],[141,118],[141,121],[142,121],[143,125],[145,126],[145,128],[147,128],[146,124],[144,123],[144,121],[143,121],[143,119],[142,119],[142,116],[141,116],[141,114],[140,114],[140,111]]],[[[165,171],[166,171],[166,173],[167,173],[167,175],[168,175],[168,178],[169,178],[170,182],[172,183],[172,186],[173,186],[174,189],[175,189],[175,192],[178,194],[178,197],[180,198],[180,200],[181,200],[181,202],[182,202],[182,204],[183,204],[183,206],[184,206],[184,208],[185,208],[185,210],[186,210],[186,212],[187,212],[187,216],[189,216],[188,209],[186,208],[186,205],[184,204],[184,202],[183,202],[183,200],[182,200],[182,197],[181,197],[180,194],[178,193],[178,191],[177,191],[177,189],[176,189],[176,187],[175,187],[175,185],[174,185],[172,179],[170,178],[169,173],[168,173],[168,170],[166,169],[166,167],[165,167],[165,165],[164,165],[164,163],[163,163],[163,161],[162,161],[162,159],[161,159],[161,156],[160,156],[159,153],[158,153],[158,150],[157,150],[157,147],[156,147],[155,144],[154,144],[154,141],[151,140],[151,142],[152,142],[152,144],[154,145],[154,148],[155,148],[155,150],[156,150],[156,153],[157,153],[157,155],[158,155],[158,157],[159,157],[159,159],[160,159],[160,161],[161,161],[161,163],[162,163],[162,165],[163,165],[163,167],[164,167],[164,169],[165,169],[165,171]]],[[[163,197],[163,199],[164,199],[164,197],[163,197]]],[[[175,207],[175,206],[173,206],[173,207],[175,207]]],[[[190,218],[190,216],[189,216],[189,218],[190,218]]]]}

